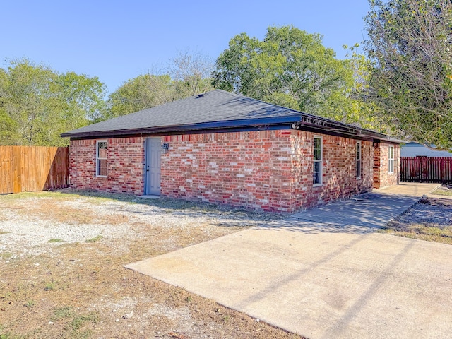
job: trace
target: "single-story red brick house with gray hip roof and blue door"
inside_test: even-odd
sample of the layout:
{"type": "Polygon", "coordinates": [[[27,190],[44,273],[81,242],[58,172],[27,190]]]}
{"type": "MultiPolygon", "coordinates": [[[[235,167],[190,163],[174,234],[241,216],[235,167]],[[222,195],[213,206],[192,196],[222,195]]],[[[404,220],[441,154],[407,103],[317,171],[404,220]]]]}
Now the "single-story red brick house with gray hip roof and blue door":
{"type": "Polygon", "coordinates": [[[76,189],[293,213],[399,178],[400,141],[223,90],[61,136],[76,189]]]}

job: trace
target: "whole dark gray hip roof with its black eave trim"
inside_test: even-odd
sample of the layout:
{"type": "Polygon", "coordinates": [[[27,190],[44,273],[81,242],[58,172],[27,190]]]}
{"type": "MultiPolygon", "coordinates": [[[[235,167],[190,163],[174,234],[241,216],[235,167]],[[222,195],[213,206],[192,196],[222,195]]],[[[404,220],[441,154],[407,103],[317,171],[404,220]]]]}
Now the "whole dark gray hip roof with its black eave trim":
{"type": "Polygon", "coordinates": [[[62,133],[62,137],[105,138],[265,129],[301,129],[367,140],[401,143],[383,133],[317,117],[242,95],[214,90],[62,133]]]}

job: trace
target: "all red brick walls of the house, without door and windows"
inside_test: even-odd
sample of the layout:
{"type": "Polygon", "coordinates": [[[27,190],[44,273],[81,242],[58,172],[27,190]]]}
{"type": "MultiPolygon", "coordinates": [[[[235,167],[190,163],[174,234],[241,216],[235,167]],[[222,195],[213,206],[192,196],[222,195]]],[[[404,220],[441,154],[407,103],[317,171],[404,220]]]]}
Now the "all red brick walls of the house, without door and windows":
{"type": "MultiPolygon", "coordinates": [[[[371,191],[374,154],[381,150],[387,155],[388,145],[374,150],[371,142],[361,142],[362,177],[356,179],[357,141],[322,138],[323,184],[313,187],[314,133],[281,130],[163,136],[169,152],[162,155],[162,196],[292,213],[371,191]]],[[[71,186],[143,194],[145,138],[99,140],[107,140],[107,177],[95,175],[96,140],[73,140],[69,148],[71,186]]],[[[383,167],[387,172],[387,158],[384,161],[378,167],[379,178],[391,184],[397,174],[382,176],[383,167]]],[[[397,161],[397,169],[398,165],[397,161]]]]}

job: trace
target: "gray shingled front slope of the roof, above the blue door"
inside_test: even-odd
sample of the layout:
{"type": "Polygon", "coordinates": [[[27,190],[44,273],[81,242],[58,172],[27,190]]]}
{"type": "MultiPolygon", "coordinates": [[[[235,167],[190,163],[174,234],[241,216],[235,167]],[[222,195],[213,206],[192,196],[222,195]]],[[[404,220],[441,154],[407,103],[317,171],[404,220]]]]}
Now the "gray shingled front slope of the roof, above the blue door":
{"type": "Polygon", "coordinates": [[[169,102],[165,105],[143,109],[139,112],[84,126],[80,129],[63,133],[61,136],[259,118],[294,117],[294,121],[297,121],[296,117],[299,117],[300,114],[302,113],[293,109],[271,105],[267,102],[244,97],[243,95],[229,93],[224,90],[213,90],[205,93],[202,97],[196,95],[169,102]]]}

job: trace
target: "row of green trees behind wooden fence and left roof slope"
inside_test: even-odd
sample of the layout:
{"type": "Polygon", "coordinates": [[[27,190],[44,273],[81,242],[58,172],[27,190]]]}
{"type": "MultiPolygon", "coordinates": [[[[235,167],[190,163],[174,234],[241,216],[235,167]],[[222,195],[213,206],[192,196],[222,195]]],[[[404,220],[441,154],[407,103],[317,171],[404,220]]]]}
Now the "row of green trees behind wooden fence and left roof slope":
{"type": "Polygon", "coordinates": [[[0,68],[0,145],[66,145],[60,134],[213,89],[199,52],[172,59],[168,73],[143,74],[105,97],[97,77],[58,73],[28,59],[0,68]]]}

